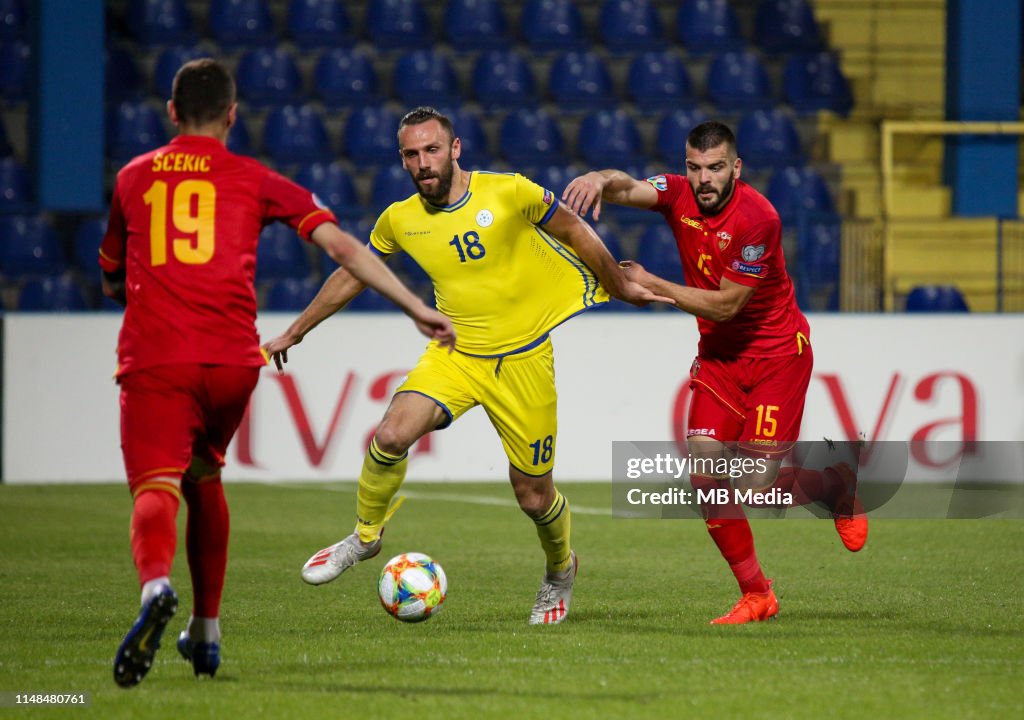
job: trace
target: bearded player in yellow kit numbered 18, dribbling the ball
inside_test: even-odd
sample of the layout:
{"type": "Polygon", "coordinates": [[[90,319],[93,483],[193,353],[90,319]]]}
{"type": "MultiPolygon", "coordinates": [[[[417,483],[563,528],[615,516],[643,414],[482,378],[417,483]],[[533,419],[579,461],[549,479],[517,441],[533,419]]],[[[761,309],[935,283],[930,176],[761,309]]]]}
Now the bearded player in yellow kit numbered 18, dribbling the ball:
{"type": "MultiPolygon", "coordinates": [[[[380,552],[409,448],[480,405],[547,557],[529,623],[560,623],[578,562],[569,505],[551,476],[557,394],[548,333],[606,302],[608,293],[638,304],[665,298],[629,281],[590,225],[550,190],[518,174],[462,170],[452,123],[432,108],[402,118],[398,147],[419,192],[384,211],[370,245],[383,256],[403,250],[426,270],[437,309],[455,326],[456,348],[432,342],[395,391],[359,475],[355,532],[310,557],[302,578],[328,583],[380,552]]],[[[288,348],[362,288],[343,268],[328,278],[289,329],[266,343],[278,368],[288,362],[288,348]]]]}

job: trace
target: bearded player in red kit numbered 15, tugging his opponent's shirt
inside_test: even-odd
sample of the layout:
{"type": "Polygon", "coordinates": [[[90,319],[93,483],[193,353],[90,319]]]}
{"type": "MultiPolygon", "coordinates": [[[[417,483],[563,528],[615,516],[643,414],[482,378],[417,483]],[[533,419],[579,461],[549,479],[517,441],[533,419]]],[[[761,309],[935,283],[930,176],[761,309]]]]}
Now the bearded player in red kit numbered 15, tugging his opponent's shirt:
{"type": "MultiPolygon", "coordinates": [[[[696,316],[700,342],[690,368],[690,456],[715,460],[735,450],[764,461],[735,480],[737,490],[774,486],[788,504],[826,503],[843,544],[857,551],[867,538],[867,519],[849,464],[823,471],[781,468],[800,434],[813,365],[810,328],[786,273],[778,213],[739,179],[741,167],[732,131],[711,121],[687,136],[685,177],[638,180],[601,170],[573,179],[562,199],[581,214],[592,210],[595,219],[602,200],[662,213],[676,238],[688,285],[658,278],[638,263],[624,266],[632,280],[696,316]]],[[[728,486],[727,476],[691,474],[690,480],[695,489],[728,486]]],[[[701,510],[742,593],[712,623],[775,616],[778,601],[758,562],[742,508],[706,504],[701,510]]]]}

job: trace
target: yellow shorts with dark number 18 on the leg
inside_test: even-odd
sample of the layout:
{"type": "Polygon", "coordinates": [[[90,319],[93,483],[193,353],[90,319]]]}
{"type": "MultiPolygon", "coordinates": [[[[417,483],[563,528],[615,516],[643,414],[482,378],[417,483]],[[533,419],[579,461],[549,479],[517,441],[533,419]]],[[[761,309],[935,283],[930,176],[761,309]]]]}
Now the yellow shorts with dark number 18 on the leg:
{"type": "Polygon", "coordinates": [[[505,357],[449,353],[431,343],[395,392],[418,392],[440,406],[449,416],[440,428],[483,406],[518,470],[539,476],[555,464],[558,394],[550,338],[505,357]]]}

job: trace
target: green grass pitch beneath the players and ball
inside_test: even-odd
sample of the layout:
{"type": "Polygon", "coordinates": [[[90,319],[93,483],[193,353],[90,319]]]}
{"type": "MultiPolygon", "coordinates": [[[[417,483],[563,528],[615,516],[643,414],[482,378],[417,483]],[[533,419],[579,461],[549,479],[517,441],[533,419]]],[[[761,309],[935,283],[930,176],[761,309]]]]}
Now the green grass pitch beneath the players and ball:
{"type": "Polygon", "coordinates": [[[223,665],[197,680],[174,649],[181,597],[141,685],[112,661],[137,612],[120,485],[0,486],[0,693],[90,692],[96,718],[1024,717],[1024,522],[878,520],[846,552],[826,520],[758,520],[775,621],[710,627],[734,581],[694,520],[614,519],[607,484],[565,484],[581,558],[568,620],[528,627],[542,573],[534,527],[500,484],[408,483],[384,551],[324,587],[314,550],[347,534],[351,484],[228,484],[223,665]],[[403,625],[380,567],[433,555],[442,611],[403,625]]]}

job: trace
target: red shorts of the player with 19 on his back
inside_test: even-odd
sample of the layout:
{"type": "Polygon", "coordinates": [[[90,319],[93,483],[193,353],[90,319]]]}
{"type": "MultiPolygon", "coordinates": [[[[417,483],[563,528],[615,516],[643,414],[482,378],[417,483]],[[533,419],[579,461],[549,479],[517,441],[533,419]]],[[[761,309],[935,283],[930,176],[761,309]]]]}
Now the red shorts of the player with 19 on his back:
{"type": "Polygon", "coordinates": [[[180,476],[194,457],[221,467],[259,372],[162,365],[122,376],[121,452],[132,494],[148,477],[180,476]]]}

